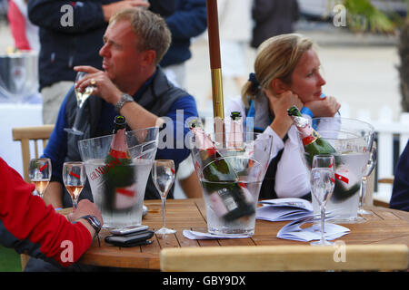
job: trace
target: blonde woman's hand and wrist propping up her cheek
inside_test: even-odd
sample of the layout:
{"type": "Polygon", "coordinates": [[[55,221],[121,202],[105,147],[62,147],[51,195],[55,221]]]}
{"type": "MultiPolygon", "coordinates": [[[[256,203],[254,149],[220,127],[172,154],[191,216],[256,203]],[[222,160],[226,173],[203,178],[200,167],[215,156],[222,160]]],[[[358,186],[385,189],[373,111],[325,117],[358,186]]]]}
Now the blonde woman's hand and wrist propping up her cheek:
{"type": "Polygon", "coordinates": [[[283,92],[278,96],[274,96],[271,92],[266,90],[264,93],[268,98],[270,111],[274,113],[274,121],[270,124],[270,127],[283,139],[293,124],[293,120],[288,116],[287,109],[291,106],[296,106],[301,109],[304,104],[298,96],[291,91],[283,92]]]}

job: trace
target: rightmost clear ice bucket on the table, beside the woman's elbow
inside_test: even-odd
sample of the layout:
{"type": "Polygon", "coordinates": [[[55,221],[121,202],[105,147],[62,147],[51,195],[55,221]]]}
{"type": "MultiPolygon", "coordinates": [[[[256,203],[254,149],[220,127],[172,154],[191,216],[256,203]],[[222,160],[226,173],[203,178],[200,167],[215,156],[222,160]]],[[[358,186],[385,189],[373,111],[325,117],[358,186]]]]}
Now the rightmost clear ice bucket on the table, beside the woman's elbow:
{"type": "MultiPolygon", "coordinates": [[[[335,189],[326,210],[334,216],[334,222],[354,222],[357,218],[361,180],[373,146],[374,127],[364,121],[337,117],[314,118],[310,120],[310,125],[336,151],[335,189]]],[[[301,141],[300,150],[309,172],[314,155],[304,151],[301,141]]],[[[318,214],[319,206],[312,196],[314,213],[318,214]]]]}

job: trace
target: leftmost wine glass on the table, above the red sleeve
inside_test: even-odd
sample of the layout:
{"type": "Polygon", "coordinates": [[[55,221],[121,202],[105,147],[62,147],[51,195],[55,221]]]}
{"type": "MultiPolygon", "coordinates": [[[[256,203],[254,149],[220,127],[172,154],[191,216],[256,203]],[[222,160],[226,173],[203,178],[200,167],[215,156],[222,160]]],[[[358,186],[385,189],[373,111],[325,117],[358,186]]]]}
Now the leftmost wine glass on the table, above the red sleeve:
{"type": "Polygon", "coordinates": [[[28,177],[35,185],[35,190],[40,198],[51,179],[51,160],[49,158],[35,158],[28,165],[28,177]]]}

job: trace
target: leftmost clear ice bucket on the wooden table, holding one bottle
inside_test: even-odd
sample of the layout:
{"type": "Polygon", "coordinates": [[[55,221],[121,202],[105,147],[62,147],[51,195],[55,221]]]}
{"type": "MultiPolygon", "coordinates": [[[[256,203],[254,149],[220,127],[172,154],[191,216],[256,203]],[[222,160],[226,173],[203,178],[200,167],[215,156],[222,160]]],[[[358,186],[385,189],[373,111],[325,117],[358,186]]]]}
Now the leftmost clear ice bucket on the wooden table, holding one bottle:
{"type": "Polygon", "coordinates": [[[133,160],[130,165],[105,162],[114,135],[78,141],[94,202],[104,218],[104,227],[133,227],[141,224],[146,182],[155,160],[158,132],[158,128],[126,132],[133,160]],[[123,179],[124,175],[113,174],[118,169],[133,170],[134,174],[129,175],[132,180],[125,180],[125,183],[121,180],[121,185],[118,179],[123,179]],[[124,184],[126,187],[123,187],[124,184]]]}

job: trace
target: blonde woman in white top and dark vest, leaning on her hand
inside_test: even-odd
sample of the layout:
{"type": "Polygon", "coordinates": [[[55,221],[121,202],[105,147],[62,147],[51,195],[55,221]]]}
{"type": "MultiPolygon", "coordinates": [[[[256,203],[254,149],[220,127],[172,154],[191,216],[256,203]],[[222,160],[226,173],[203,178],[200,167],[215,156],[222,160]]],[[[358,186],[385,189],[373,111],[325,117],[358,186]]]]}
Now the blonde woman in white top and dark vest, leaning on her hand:
{"type": "Polygon", "coordinates": [[[226,107],[226,115],[241,111],[244,126],[273,135],[270,166],[260,198],[311,197],[297,132],[286,110],[296,105],[309,118],[338,114],[340,104],[334,97],[324,96],[320,66],[314,43],[303,35],[269,38],[260,45],[254,73],[244,84],[241,98],[226,107]]]}

